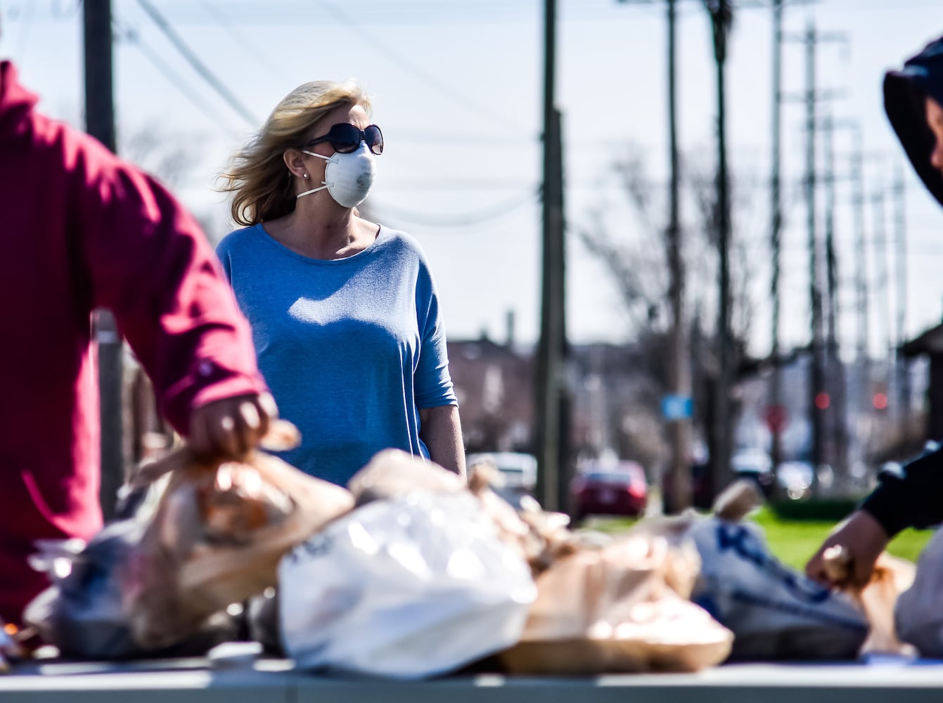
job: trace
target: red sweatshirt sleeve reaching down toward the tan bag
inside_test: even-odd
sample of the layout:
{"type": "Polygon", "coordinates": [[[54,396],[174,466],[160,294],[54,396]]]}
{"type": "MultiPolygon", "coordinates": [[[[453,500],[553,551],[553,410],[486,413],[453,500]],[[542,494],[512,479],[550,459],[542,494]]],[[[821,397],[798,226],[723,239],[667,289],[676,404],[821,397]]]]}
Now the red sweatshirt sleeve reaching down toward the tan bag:
{"type": "Polygon", "coordinates": [[[264,391],[249,324],[190,213],[96,141],[77,137],[67,157],[91,302],[114,313],[174,428],[189,433],[196,406],[264,391]]]}

